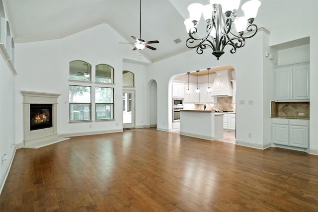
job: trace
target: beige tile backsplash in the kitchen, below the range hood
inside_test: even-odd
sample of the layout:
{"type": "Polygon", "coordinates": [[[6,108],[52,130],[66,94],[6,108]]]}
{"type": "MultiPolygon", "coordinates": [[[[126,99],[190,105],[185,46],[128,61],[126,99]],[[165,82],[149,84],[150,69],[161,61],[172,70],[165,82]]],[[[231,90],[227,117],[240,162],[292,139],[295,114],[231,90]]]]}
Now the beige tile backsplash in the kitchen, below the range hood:
{"type": "MultiPolygon", "coordinates": [[[[204,104],[184,104],[183,108],[188,110],[203,110],[204,104]]],[[[218,97],[218,103],[206,104],[206,109],[235,112],[235,104],[232,103],[232,96],[220,96],[218,97]]]]}

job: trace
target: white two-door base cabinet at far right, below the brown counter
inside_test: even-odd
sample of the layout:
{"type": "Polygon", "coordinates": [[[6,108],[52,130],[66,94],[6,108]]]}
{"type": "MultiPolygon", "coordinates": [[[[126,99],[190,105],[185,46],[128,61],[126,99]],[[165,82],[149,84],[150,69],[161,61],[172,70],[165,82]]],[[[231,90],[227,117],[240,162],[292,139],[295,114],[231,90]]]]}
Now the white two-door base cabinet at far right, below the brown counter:
{"type": "Polygon", "coordinates": [[[272,119],[272,142],[275,144],[308,148],[309,120],[272,119]]]}

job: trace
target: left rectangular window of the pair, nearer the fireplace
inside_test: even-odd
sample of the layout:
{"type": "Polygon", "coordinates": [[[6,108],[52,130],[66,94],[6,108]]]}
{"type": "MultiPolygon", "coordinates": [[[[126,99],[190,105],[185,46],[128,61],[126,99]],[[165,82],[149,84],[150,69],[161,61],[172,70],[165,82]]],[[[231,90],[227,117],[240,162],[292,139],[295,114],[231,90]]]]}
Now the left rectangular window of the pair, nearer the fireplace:
{"type": "Polygon", "coordinates": [[[70,85],[70,121],[91,120],[91,87],[70,85]]]}

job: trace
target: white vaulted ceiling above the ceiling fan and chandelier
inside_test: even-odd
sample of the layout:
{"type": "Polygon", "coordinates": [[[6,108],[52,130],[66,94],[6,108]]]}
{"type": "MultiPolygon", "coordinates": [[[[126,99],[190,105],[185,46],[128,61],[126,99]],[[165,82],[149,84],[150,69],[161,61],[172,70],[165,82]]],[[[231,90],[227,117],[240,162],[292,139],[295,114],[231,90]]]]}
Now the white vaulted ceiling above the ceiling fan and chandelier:
{"type": "MultiPolygon", "coordinates": [[[[264,26],[269,22],[262,21],[266,17],[262,7],[266,6],[261,1],[255,22],[269,29],[264,26]]],[[[142,0],[141,38],[159,40],[152,44],[156,51],[142,50],[148,60],[156,62],[190,50],[185,45],[188,35],[183,22],[188,18],[187,6],[194,2],[208,4],[209,0],[142,0]],[[176,39],[181,42],[175,43],[176,39]]],[[[114,43],[139,38],[139,0],[4,0],[3,4],[15,43],[59,39],[101,23],[122,36],[114,43]]]]}

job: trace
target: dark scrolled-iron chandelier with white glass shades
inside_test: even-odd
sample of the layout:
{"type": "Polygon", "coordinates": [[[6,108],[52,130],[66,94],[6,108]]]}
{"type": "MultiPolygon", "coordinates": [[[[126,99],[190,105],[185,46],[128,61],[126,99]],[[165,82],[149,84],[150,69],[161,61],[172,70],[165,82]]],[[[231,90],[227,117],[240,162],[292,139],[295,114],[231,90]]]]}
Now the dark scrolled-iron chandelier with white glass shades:
{"type": "Polygon", "coordinates": [[[210,0],[210,4],[204,6],[200,3],[190,4],[188,6],[190,18],[184,21],[189,35],[186,46],[191,49],[196,48],[199,55],[210,47],[212,54],[218,60],[224,54],[227,45],[232,46],[230,50],[232,54],[236,53],[237,49],[245,45],[245,39],[256,34],[257,26],[253,21],[261,4],[259,0],[245,2],[241,7],[245,16],[238,17],[236,13],[239,3],[240,0],[210,0]],[[202,13],[206,21],[206,34],[199,37],[197,26],[202,13]]]}

